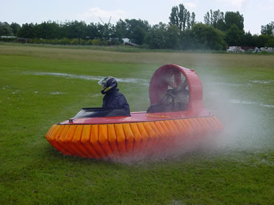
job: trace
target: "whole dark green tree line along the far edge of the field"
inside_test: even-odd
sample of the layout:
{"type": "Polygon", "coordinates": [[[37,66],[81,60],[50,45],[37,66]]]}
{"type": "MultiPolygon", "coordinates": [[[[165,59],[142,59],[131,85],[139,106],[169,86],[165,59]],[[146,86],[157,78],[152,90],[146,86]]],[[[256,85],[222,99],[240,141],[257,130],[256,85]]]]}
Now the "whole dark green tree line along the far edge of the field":
{"type": "MultiPolygon", "coordinates": [[[[149,25],[147,20],[120,19],[111,23],[72,20],[64,23],[45,21],[40,24],[0,22],[0,36],[28,38],[33,43],[49,44],[121,44],[123,38],[149,49],[212,49],[227,46],[274,47],[274,22],[262,25],[261,34],[244,29],[240,12],[208,11],[203,23],[197,23],[195,12],[181,3],[171,8],[169,23],[149,25]]],[[[3,38],[2,38],[3,40],[3,38]]]]}

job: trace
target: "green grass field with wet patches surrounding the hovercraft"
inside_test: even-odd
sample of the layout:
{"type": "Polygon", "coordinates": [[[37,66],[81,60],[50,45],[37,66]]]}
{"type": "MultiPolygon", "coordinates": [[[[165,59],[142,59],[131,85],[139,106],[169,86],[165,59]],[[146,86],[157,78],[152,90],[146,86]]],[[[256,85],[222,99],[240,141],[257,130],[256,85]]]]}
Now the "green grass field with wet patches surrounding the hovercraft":
{"type": "Polygon", "coordinates": [[[0,45],[0,204],[273,204],[274,57],[0,45]],[[193,68],[225,131],[211,150],[148,161],[64,156],[52,124],[100,107],[114,76],[131,111],[149,106],[153,72],[193,68]]]}

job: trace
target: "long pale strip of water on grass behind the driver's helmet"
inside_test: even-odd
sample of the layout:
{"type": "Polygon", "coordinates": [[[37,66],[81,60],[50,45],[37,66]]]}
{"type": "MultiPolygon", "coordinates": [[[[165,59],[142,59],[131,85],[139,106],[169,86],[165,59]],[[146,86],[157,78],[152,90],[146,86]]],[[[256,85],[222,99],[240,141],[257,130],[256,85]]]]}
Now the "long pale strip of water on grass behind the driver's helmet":
{"type": "MultiPolygon", "coordinates": [[[[69,79],[84,79],[88,81],[100,81],[103,79],[101,76],[92,76],[92,75],[83,75],[83,74],[68,74],[68,73],[60,73],[60,72],[25,72],[24,74],[33,74],[33,75],[47,75],[54,77],[65,77],[69,79]]],[[[149,81],[146,79],[132,79],[132,78],[116,78],[118,82],[124,83],[142,83],[145,85],[149,84],[149,81]]]]}

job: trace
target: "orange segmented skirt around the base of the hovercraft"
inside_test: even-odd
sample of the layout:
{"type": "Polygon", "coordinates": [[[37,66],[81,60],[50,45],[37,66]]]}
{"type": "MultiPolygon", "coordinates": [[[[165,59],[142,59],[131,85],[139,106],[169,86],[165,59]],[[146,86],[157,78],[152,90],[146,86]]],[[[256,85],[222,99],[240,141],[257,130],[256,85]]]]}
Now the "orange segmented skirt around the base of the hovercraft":
{"type": "Polygon", "coordinates": [[[121,124],[54,124],[47,140],[64,154],[92,159],[161,152],[177,141],[195,141],[221,132],[215,116],[121,124]]]}

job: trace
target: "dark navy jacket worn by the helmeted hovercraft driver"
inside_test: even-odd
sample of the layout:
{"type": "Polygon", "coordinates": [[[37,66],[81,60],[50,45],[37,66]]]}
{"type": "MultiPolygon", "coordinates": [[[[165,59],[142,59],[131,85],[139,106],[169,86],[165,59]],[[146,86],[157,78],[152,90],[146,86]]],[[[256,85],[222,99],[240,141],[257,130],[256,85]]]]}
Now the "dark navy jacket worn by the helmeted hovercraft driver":
{"type": "Polygon", "coordinates": [[[112,107],[112,108],[122,108],[124,109],[128,114],[130,114],[129,111],[129,105],[127,103],[127,99],[121,92],[119,92],[119,89],[110,90],[103,96],[103,106],[102,107],[112,107]]]}

